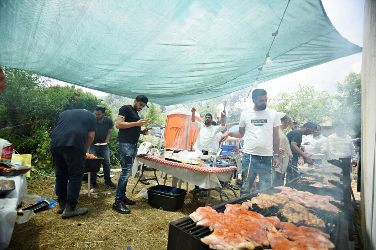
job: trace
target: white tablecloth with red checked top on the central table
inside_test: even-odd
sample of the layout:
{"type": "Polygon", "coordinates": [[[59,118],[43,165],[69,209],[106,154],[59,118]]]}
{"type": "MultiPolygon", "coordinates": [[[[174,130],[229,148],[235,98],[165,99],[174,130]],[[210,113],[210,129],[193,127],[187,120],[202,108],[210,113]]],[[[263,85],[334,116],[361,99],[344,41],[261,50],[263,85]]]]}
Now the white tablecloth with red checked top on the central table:
{"type": "Polygon", "coordinates": [[[138,165],[141,164],[161,170],[201,188],[221,187],[219,181],[228,181],[232,176],[232,171],[237,169],[235,166],[206,168],[145,156],[136,157],[132,168],[133,178],[136,175],[138,165]]]}

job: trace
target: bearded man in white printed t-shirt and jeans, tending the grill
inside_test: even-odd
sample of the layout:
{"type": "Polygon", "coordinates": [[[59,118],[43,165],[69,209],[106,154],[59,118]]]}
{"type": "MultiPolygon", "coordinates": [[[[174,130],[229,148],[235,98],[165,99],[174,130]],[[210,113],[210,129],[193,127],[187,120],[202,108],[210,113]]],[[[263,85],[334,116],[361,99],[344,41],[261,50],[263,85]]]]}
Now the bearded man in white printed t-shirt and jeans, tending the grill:
{"type": "Polygon", "coordinates": [[[244,137],[240,196],[250,193],[253,182],[259,174],[258,189],[271,186],[272,167],[279,166],[279,125],[281,121],[276,110],[267,108],[268,95],[264,89],[252,92],[255,104],[251,110],[241,113],[239,131],[224,133],[220,141],[228,136],[244,137]]]}

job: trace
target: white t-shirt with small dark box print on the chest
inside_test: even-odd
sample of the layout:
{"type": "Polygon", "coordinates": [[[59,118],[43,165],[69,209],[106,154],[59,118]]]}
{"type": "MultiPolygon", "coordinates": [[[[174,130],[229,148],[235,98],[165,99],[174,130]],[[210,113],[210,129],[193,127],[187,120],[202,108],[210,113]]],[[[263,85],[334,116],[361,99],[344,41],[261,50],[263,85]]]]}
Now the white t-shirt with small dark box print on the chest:
{"type": "Polygon", "coordinates": [[[240,128],[246,128],[243,152],[251,155],[272,156],[273,128],[279,125],[281,125],[281,120],[274,109],[266,108],[256,111],[252,108],[243,111],[239,122],[240,128]]]}

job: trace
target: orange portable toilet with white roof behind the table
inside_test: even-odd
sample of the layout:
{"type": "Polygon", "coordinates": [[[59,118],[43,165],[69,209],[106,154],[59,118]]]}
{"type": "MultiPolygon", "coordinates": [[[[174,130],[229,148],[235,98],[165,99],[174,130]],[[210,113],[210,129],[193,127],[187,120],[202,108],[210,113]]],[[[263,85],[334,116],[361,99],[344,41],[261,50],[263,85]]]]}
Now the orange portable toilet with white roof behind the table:
{"type": "MultiPolygon", "coordinates": [[[[196,112],[196,120],[201,122],[200,114],[196,112]]],[[[199,135],[199,130],[193,125],[190,108],[179,108],[167,115],[165,127],[166,148],[174,150],[194,150],[193,145],[199,135]]]]}

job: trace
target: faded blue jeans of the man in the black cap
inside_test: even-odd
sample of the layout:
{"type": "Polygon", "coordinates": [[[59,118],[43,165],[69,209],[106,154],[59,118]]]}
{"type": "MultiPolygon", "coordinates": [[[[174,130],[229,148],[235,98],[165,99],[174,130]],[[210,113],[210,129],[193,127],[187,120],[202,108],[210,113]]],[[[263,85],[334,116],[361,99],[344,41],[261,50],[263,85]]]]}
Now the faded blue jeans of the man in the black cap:
{"type": "Polygon", "coordinates": [[[124,200],[128,179],[132,175],[132,165],[137,154],[137,144],[117,142],[116,145],[121,164],[121,173],[115,194],[115,203],[119,203],[124,200]]]}

